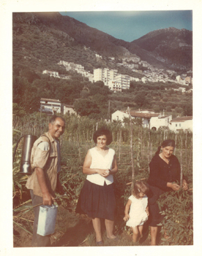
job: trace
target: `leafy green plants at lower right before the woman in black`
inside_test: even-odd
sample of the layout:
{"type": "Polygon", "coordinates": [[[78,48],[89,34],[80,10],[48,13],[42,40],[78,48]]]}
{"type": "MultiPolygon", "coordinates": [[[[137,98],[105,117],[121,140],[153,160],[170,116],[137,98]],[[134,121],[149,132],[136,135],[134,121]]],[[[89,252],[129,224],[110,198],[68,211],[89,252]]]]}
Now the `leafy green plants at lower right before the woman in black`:
{"type": "Polygon", "coordinates": [[[178,190],[164,193],[158,200],[162,220],[164,245],[193,244],[193,195],[192,191],[178,190]]]}

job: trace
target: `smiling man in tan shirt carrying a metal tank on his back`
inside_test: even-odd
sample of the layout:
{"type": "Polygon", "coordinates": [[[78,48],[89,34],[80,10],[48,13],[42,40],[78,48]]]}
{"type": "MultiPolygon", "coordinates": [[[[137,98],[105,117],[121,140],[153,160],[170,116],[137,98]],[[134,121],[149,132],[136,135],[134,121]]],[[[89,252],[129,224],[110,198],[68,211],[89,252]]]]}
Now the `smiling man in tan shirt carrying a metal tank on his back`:
{"type": "MultiPolygon", "coordinates": [[[[33,173],[26,182],[26,188],[30,189],[33,206],[40,203],[52,205],[56,188],[63,193],[59,182],[61,170],[61,151],[59,137],[64,133],[65,120],[61,116],[52,116],[49,121],[49,131],[41,135],[33,144],[31,150],[31,169],[33,173]]],[[[40,206],[33,208],[33,239],[32,246],[51,246],[49,236],[37,234],[38,215],[40,206]]]]}

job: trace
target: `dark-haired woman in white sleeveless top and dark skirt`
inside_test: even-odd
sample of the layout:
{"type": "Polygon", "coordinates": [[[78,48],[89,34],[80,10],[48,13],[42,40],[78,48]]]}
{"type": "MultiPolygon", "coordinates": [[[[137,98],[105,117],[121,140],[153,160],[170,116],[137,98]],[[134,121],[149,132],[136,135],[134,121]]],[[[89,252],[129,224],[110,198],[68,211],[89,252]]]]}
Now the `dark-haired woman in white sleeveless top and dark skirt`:
{"type": "Polygon", "coordinates": [[[89,149],[83,165],[83,173],[87,174],[77,203],[77,213],[86,213],[93,220],[96,234],[96,245],[102,246],[100,218],[104,218],[107,238],[116,239],[113,234],[115,195],[113,175],[118,171],[114,149],[107,145],[112,142],[112,135],[106,128],[100,128],[93,135],[97,144],[89,149]]]}

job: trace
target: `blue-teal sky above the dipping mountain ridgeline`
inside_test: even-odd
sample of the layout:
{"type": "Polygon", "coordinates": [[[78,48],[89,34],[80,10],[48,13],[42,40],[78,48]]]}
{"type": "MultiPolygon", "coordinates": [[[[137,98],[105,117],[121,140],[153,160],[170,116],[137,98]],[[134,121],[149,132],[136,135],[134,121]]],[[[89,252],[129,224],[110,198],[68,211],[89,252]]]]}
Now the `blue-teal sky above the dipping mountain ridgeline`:
{"type": "Polygon", "coordinates": [[[127,42],[150,31],[175,27],[192,30],[192,10],[154,11],[71,11],[61,15],[74,17],[89,27],[99,29],[127,42]]]}

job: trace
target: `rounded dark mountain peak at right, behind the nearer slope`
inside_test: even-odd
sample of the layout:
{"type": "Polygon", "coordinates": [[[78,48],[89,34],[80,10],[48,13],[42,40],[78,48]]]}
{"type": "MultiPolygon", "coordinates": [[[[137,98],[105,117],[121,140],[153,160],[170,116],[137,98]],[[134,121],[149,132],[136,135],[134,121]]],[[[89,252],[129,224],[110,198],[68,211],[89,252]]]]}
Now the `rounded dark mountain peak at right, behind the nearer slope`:
{"type": "Polygon", "coordinates": [[[187,29],[158,29],[132,41],[142,49],[159,55],[172,67],[192,68],[192,31],[187,29]]]}

